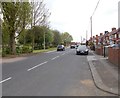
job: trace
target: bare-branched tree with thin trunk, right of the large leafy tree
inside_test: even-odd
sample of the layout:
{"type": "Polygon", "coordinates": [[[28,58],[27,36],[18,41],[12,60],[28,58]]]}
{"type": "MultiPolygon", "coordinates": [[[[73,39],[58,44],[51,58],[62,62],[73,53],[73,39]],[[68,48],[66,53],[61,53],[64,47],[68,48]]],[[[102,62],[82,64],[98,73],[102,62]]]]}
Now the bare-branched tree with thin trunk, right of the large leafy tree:
{"type": "MultiPolygon", "coordinates": [[[[50,16],[49,9],[45,8],[45,4],[43,0],[31,2],[32,12],[31,12],[31,28],[34,28],[35,26],[45,26],[47,24],[47,18],[50,16]]],[[[32,40],[32,47],[34,50],[34,36],[33,31],[33,40],[32,40]]]]}

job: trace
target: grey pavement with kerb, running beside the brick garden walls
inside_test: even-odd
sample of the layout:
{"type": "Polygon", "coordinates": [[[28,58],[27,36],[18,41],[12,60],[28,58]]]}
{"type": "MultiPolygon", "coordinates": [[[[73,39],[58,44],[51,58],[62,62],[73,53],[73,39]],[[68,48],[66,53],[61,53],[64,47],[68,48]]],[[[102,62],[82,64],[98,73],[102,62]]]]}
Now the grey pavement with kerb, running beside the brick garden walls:
{"type": "Polygon", "coordinates": [[[120,83],[118,81],[118,66],[110,63],[108,57],[97,55],[93,51],[90,52],[93,56],[88,56],[87,59],[96,87],[105,92],[120,95],[118,88],[120,83]]]}

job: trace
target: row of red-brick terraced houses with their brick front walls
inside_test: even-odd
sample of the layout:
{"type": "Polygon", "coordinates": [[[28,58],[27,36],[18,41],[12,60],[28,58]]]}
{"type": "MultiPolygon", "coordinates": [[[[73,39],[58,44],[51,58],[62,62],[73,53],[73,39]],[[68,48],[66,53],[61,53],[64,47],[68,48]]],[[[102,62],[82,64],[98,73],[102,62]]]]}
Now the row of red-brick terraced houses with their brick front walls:
{"type": "Polygon", "coordinates": [[[111,63],[120,66],[120,28],[100,33],[89,41],[93,42],[96,54],[108,57],[111,63]]]}

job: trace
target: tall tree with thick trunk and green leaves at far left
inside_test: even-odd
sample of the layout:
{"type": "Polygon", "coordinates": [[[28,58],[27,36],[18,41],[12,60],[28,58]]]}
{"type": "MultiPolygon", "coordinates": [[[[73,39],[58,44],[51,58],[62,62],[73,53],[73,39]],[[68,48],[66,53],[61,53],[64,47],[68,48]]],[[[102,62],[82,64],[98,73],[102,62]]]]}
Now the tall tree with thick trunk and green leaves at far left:
{"type": "Polygon", "coordinates": [[[16,53],[15,38],[28,24],[30,19],[29,2],[2,2],[4,27],[8,30],[10,53],[16,53]]]}

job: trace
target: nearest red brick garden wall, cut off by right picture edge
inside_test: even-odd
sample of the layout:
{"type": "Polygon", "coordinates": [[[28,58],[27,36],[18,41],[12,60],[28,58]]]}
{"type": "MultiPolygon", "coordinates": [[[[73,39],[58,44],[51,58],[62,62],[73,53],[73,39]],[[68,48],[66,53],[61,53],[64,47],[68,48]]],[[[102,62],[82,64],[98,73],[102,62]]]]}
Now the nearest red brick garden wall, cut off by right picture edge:
{"type": "MultiPolygon", "coordinates": [[[[120,66],[120,49],[109,48],[108,49],[108,59],[111,63],[120,66]]],[[[120,67],[119,67],[120,68],[120,67]]]]}

